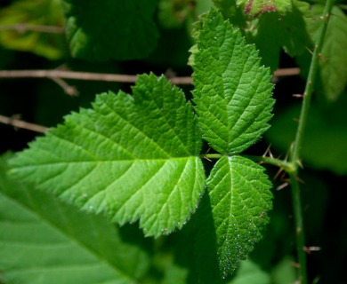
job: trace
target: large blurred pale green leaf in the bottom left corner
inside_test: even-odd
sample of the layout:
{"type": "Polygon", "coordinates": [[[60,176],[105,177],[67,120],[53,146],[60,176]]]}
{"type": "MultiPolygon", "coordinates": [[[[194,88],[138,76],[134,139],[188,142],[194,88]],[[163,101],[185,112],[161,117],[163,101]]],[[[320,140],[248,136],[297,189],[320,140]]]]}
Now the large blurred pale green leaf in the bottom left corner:
{"type": "Polygon", "coordinates": [[[7,284],[131,284],[150,265],[149,240],[5,176],[0,157],[0,279],[7,284]]]}

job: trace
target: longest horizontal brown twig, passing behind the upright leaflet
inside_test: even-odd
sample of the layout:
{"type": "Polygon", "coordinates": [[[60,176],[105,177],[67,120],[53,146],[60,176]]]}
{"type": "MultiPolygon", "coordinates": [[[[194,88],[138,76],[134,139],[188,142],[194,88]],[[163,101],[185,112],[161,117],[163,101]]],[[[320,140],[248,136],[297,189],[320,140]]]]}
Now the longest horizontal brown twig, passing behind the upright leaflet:
{"type": "MultiPolygon", "coordinates": [[[[275,76],[299,75],[299,68],[278,69],[274,72],[275,76]]],[[[63,78],[86,81],[105,81],[118,83],[135,83],[137,75],[121,74],[102,74],[88,73],[66,70],[4,70],[0,71],[0,78],[63,78]]],[[[174,84],[191,84],[191,77],[172,77],[168,78],[174,84]]]]}

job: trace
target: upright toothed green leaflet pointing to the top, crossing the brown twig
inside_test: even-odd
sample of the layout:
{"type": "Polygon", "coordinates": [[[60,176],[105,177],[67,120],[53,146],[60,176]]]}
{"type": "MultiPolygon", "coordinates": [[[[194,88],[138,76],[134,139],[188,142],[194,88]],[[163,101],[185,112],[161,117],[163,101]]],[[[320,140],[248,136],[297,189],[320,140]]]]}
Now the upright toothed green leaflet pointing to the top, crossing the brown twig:
{"type": "Polygon", "coordinates": [[[238,154],[269,128],[270,72],[260,67],[254,45],[247,45],[220,13],[210,12],[202,25],[193,95],[203,138],[222,154],[238,154]]]}

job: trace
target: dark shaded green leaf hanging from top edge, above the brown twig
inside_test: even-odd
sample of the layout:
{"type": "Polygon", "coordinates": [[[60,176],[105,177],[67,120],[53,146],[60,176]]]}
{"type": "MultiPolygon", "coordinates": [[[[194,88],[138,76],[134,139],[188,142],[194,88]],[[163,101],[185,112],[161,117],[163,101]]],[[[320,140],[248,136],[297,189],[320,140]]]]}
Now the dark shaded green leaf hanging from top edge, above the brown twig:
{"type": "Polygon", "coordinates": [[[63,0],[63,7],[74,57],[141,59],[157,44],[157,0],[63,0]]]}

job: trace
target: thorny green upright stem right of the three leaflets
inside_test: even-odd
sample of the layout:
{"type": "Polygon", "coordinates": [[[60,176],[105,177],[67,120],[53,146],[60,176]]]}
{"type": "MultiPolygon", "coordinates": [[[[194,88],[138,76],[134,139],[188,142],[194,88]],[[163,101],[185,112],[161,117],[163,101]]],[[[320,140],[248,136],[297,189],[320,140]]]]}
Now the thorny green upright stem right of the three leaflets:
{"type": "Polygon", "coordinates": [[[295,170],[289,173],[289,177],[292,185],[292,199],[293,209],[295,216],[295,227],[296,227],[296,250],[297,258],[299,262],[299,281],[301,284],[307,284],[307,272],[306,272],[306,252],[304,251],[305,246],[305,234],[303,230],[303,212],[302,212],[302,201],[300,196],[300,186],[298,183],[298,166],[300,166],[300,151],[303,146],[303,131],[306,126],[309,108],[311,103],[311,96],[313,91],[313,84],[316,78],[317,70],[319,67],[320,51],[322,49],[324,36],[327,31],[327,20],[329,19],[330,12],[333,8],[334,0],[327,0],[326,7],[322,16],[322,24],[319,28],[317,40],[314,46],[314,51],[311,59],[310,72],[307,78],[305,91],[303,92],[303,106],[300,114],[299,125],[296,131],[295,145],[293,148],[290,162],[295,165],[295,170]]]}

